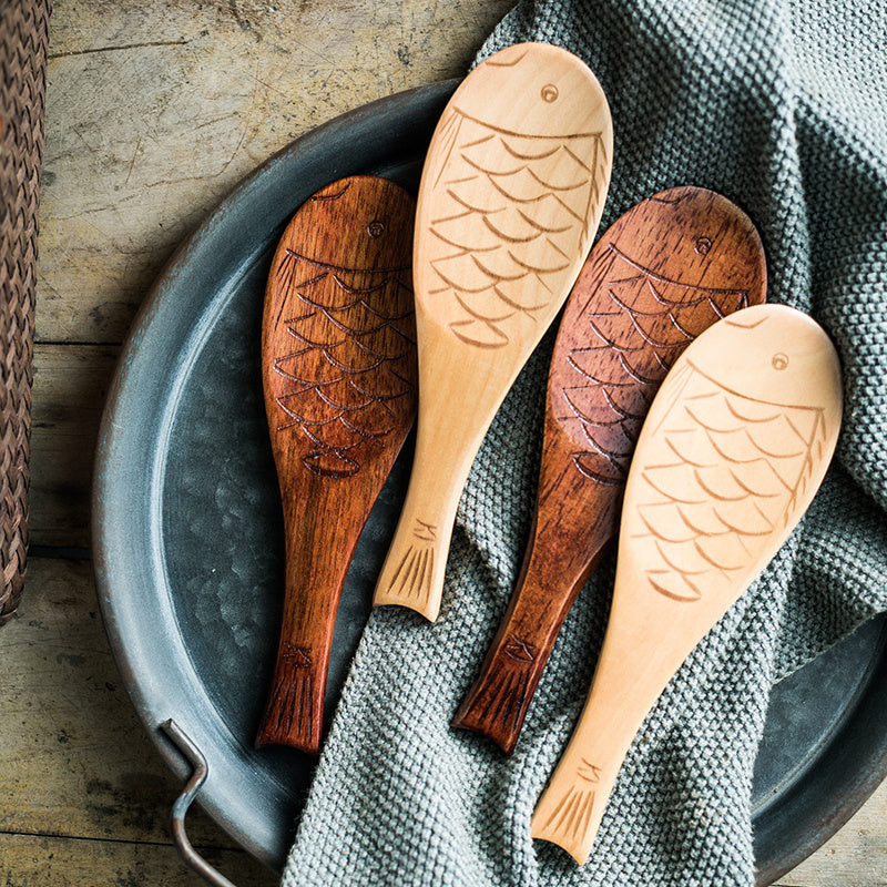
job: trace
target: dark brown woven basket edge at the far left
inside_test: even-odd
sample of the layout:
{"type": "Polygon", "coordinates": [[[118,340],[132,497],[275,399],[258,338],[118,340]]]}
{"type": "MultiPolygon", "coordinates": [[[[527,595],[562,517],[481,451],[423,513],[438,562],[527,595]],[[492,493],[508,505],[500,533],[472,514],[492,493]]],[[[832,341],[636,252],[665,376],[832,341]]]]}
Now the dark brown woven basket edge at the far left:
{"type": "Polygon", "coordinates": [[[51,0],[0,0],[0,625],[28,547],[37,211],[51,0]]]}

